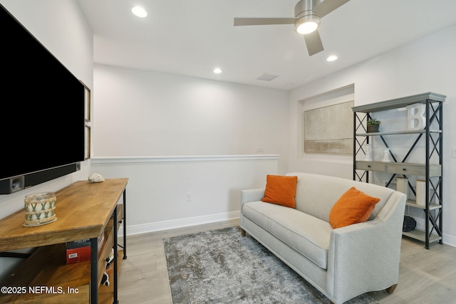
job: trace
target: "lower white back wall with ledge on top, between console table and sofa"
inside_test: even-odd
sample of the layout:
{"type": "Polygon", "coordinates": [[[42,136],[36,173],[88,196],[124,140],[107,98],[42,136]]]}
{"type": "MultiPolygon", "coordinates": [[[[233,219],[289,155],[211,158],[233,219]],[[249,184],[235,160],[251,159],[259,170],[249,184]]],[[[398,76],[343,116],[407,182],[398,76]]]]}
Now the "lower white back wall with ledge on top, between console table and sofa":
{"type": "Polygon", "coordinates": [[[241,190],[264,187],[266,174],[277,174],[278,158],[101,157],[92,169],[129,178],[127,234],[139,234],[239,218],[241,190]]]}

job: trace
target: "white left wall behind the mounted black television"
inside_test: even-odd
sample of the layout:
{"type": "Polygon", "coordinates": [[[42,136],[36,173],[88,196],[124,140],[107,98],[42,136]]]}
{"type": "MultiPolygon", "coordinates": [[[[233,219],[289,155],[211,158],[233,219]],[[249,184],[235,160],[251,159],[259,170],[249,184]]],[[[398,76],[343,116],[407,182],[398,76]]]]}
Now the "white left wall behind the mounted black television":
{"type": "MultiPolygon", "coordinates": [[[[76,1],[0,0],[0,4],[9,10],[77,78],[83,80],[89,88],[93,88],[93,33],[76,1]]],[[[38,102],[46,102],[46,96],[38,102]]],[[[82,162],[79,172],[15,194],[0,195],[0,219],[24,208],[26,194],[56,191],[76,180],[86,179],[89,172],[90,162],[82,162]]],[[[0,258],[0,281],[4,273],[9,273],[14,267],[14,264],[11,264],[14,260],[0,258]]]]}

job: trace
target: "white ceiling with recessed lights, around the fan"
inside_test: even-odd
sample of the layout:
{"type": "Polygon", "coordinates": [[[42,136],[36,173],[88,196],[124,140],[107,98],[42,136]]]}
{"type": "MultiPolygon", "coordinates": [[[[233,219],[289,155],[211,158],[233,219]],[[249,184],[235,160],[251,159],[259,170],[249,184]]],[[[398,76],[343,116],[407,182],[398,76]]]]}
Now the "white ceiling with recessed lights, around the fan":
{"type": "Polygon", "coordinates": [[[234,17],[294,17],[298,0],[78,1],[95,63],[282,90],[456,24],[456,0],[351,0],[321,19],[325,51],[309,57],[293,25],[233,26],[234,17]],[[328,63],[331,54],[338,60],[328,63]],[[264,73],[279,77],[257,80],[264,73]]]}

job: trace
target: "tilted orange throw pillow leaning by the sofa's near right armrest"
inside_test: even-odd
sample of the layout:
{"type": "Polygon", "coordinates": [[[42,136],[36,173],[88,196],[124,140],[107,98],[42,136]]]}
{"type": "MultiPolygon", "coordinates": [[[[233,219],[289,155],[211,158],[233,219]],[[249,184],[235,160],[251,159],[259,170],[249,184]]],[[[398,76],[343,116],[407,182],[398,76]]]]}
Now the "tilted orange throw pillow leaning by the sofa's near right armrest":
{"type": "Polygon", "coordinates": [[[351,187],[336,201],[329,212],[329,224],[333,229],[367,221],[380,199],[351,187]]]}

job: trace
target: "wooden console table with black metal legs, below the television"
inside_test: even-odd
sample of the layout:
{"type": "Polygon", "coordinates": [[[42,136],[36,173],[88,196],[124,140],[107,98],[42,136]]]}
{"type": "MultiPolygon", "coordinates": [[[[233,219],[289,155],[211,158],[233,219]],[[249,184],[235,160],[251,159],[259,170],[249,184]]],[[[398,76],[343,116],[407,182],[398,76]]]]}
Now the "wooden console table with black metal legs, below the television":
{"type": "Polygon", "coordinates": [[[39,248],[1,284],[9,290],[2,289],[0,303],[118,303],[118,270],[121,259],[127,257],[127,182],[80,181],[61,189],[56,192],[57,220],[51,224],[24,227],[24,209],[1,219],[0,252],[39,248]],[[118,205],[121,196],[123,204],[118,205]],[[118,219],[123,219],[124,225],[123,250],[118,250],[118,219]],[[98,251],[101,234],[105,240],[98,251]],[[65,243],[81,239],[90,239],[91,261],[66,265],[65,243]],[[111,248],[119,257],[113,260],[110,286],[106,287],[100,282],[111,248]]]}

